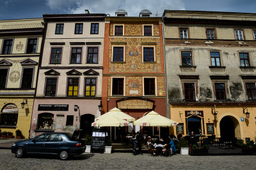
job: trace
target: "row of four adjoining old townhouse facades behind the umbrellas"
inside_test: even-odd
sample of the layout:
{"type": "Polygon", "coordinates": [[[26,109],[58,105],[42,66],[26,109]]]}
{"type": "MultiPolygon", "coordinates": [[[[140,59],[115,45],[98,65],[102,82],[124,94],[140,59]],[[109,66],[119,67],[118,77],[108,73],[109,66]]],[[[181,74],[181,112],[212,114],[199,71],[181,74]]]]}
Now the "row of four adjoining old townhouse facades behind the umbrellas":
{"type": "Polygon", "coordinates": [[[254,13],[170,10],[3,20],[1,131],[90,134],[116,107],[179,122],[161,133],[255,140],[255,23],[254,13]]]}

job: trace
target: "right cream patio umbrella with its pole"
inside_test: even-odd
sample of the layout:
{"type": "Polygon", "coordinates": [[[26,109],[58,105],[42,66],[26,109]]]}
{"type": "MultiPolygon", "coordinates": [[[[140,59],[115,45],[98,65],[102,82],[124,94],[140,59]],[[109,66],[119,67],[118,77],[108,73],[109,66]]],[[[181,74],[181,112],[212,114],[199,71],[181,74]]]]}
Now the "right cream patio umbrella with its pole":
{"type": "MultiPolygon", "coordinates": [[[[150,111],[144,117],[139,118],[134,122],[134,125],[140,126],[151,126],[151,127],[172,127],[179,124],[171,120],[170,118],[163,117],[155,111],[150,111]]],[[[159,139],[160,139],[160,128],[159,128],[159,139]]]]}

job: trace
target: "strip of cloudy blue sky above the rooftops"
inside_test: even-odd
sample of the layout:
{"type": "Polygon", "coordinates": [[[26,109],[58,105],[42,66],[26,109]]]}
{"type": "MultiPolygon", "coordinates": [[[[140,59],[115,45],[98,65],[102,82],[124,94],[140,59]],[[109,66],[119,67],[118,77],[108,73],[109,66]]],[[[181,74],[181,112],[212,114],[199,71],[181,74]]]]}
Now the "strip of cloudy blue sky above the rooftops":
{"type": "Polygon", "coordinates": [[[109,13],[118,9],[138,16],[147,9],[161,17],[164,10],[233,11],[256,13],[255,0],[0,0],[0,20],[40,18],[52,13],[109,13]]]}

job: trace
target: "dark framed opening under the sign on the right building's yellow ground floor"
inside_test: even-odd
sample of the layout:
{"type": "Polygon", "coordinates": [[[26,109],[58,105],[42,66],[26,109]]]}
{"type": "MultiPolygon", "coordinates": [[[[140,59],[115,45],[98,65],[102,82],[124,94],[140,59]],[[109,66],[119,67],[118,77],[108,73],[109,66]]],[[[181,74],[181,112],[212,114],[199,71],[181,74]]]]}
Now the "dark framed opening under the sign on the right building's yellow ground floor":
{"type": "Polygon", "coordinates": [[[202,125],[200,117],[189,117],[188,118],[188,132],[194,132],[194,134],[202,133],[202,125]]]}

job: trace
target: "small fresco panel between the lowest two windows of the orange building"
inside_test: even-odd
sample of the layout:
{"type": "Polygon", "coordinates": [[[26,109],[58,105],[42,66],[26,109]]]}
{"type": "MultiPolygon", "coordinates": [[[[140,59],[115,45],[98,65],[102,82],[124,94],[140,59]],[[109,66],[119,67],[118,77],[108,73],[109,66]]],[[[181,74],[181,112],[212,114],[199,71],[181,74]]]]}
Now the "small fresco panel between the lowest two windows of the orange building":
{"type": "Polygon", "coordinates": [[[125,96],[142,96],[141,76],[127,76],[125,81],[125,96]]]}

